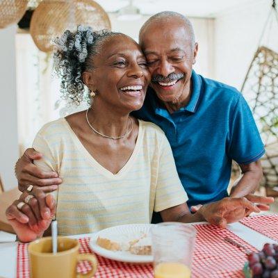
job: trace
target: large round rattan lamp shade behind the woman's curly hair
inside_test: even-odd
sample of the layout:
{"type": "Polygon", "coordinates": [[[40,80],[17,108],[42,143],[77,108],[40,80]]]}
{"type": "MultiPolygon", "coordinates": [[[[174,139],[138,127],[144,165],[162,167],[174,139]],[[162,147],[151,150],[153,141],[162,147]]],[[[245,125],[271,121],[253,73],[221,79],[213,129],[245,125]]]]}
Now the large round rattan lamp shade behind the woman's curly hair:
{"type": "Polygon", "coordinates": [[[91,26],[95,31],[111,29],[107,13],[95,1],[43,0],[33,13],[30,33],[38,49],[49,52],[56,35],[78,24],[91,26]]]}

